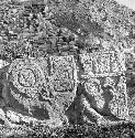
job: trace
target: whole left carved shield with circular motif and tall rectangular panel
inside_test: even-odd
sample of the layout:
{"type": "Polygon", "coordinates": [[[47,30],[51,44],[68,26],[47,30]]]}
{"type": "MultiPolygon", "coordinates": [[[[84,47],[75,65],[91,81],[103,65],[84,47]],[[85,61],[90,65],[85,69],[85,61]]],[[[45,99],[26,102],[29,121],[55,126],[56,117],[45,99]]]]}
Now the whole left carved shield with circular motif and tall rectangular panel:
{"type": "Polygon", "coordinates": [[[15,60],[8,73],[10,106],[38,120],[60,118],[76,96],[74,56],[15,60]]]}

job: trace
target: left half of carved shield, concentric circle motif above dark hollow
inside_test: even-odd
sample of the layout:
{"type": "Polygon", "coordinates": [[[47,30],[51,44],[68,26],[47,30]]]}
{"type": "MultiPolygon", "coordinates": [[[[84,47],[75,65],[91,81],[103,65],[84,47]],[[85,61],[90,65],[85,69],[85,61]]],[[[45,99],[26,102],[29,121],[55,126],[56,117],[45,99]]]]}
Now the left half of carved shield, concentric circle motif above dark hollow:
{"type": "Polygon", "coordinates": [[[47,91],[47,59],[13,61],[9,67],[9,95],[15,110],[23,110],[38,120],[59,116],[57,103],[47,91]]]}

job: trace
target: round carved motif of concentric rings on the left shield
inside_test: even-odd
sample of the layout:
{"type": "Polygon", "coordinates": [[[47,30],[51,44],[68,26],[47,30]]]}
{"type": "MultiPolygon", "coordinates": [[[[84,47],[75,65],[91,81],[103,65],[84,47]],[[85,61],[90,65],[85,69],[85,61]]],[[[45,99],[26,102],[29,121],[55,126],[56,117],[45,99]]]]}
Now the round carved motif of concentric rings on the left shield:
{"type": "Polygon", "coordinates": [[[45,74],[34,60],[14,61],[9,68],[9,73],[13,77],[14,87],[29,97],[38,93],[45,83],[45,74]]]}

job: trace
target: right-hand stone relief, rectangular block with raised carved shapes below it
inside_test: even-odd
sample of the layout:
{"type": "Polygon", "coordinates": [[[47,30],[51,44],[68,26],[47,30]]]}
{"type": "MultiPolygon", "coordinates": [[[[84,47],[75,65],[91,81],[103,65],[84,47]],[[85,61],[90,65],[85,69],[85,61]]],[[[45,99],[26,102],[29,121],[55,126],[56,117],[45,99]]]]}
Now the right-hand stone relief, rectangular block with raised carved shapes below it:
{"type": "Polygon", "coordinates": [[[97,81],[101,77],[104,79],[104,84],[102,84],[103,87],[110,87],[109,93],[113,94],[113,99],[109,103],[111,113],[119,118],[127,118],[128,109],[124,74],[124,54],[115,53],[114,51],[101,51],[80,54],[80,59],[85,68],[85,74],[82,74],[82,76],[88,79],[86,82],[86,89],[94,96],[97,106],[103,108],[105,103],[104,97],[102,97],[103,89],[101,88],[101,84],[97,81]],[[119,81],[116,82],[116,79],[119,81]]]}

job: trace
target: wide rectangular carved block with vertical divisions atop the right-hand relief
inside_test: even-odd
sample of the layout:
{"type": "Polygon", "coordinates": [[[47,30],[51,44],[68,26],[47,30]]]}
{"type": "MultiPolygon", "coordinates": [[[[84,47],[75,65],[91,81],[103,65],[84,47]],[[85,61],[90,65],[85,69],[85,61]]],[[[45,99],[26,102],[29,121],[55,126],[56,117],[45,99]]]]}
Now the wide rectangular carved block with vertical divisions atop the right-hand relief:
{"type": "Polygon", "coordinates": [[[86,77],[116,76],[125,71],[125,57],[114,51],[80,54],[86,77]]]}

